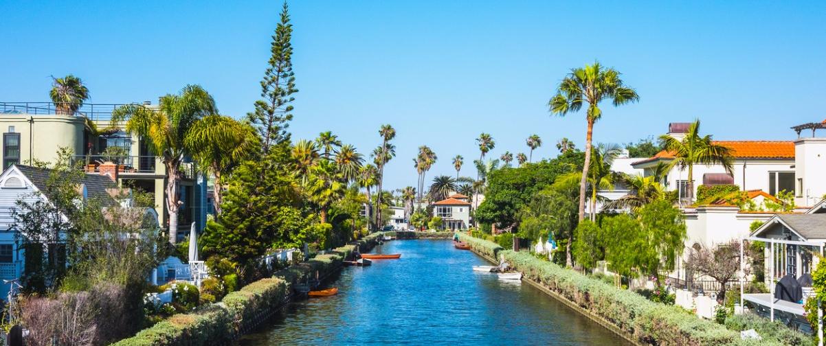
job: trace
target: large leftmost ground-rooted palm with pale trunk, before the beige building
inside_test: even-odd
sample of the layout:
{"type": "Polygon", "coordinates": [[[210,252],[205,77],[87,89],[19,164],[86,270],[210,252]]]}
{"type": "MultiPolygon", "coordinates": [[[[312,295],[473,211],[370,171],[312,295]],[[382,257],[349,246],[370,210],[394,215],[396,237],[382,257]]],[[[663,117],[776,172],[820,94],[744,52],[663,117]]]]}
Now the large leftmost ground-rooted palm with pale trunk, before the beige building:
{"type": "Polygon", "coordinates": [[[126,105],[112,112],[112,121],[126,121],[126,131],[146,139],[150,150],[159,155],[166,168],[166,209],[169,213],[169,242],[178,240],[178,182],[183,159],[191,154],[184,139],[192,126],[204,116],[216,114],[215,100],[197,85],[184,87],[178,95],[160,97],[157,108],[126,105]]]}

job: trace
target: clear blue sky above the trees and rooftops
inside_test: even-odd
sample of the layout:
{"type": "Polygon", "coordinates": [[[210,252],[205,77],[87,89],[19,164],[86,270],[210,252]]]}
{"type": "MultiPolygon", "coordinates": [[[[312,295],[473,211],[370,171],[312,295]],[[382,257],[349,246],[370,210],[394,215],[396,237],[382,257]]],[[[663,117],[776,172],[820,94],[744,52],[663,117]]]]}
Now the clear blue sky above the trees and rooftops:
{"type": "MultiPolygon", "coordinates": [[[[557,154],[582,147],[582,113],[550,116],[571,68],[598,59],[640,102],[605,105],[595,141],[659,135],[699,118],[719,140],[790,140],[826,118],[826,2],[290,2],[297,86],[293,138],[332,130],[368,153],[398,133],[386,186],[415,185],[419,145],[451,158],[557,154]]],[[[74,73],[91,102],[157,100],[198,83],[222,113],[259,98],[281,2],[0,2],[0,101],[47,101],[50,75],[74,73]]],[[[475,176],[470,164],[464,175],[475,176]]]]}

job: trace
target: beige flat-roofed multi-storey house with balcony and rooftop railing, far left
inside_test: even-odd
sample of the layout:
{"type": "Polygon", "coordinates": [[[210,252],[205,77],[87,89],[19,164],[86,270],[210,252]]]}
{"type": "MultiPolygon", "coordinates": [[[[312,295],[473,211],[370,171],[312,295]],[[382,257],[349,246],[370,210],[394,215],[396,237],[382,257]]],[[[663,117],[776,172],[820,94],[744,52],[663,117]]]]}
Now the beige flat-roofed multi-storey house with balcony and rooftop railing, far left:
{"type": "MultiPolygon", "coordinates": [[[[168,225],[165,187],[166,168],[147,142],[126,132],[126,124],[113,122],[117,104],[83,104],[72,115],[58,114],[52,102],[0,102],[2,168],[12,164],[54,163],[61,148],[74,153],[88,173],[100,173],[104,162],[117,164],[119,186],[149,192],[161,225],[168,225]]],[[[144,102],[145,107],[157,107],[144,102]]],[[[184,159],[179,179],[178,236],[188,234],[191,222],[202,230],[207,223],[207,178],[184,159]]]]}

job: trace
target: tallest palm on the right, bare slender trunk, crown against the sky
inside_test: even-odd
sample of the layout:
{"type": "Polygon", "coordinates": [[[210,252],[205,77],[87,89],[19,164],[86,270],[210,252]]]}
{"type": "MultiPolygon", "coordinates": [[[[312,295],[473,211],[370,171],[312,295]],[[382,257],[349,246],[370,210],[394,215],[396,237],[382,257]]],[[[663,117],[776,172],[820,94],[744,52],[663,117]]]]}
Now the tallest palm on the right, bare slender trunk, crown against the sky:
{"type": "Polygon", "coordinates": [[[599,121],[602,111],[600,102],[612,100],[615,107],[639,99],[633,88],[628,88],[619,78],[615,69],[605,69],[600,63],[586,65],[582,69],[572,69],[571,73],[559,83],[557,94],[548,102],[550,111],[558,116],[565,116],[572,111],[579,111],[582,102],[588,103],[586,111],[587,131],[585,136],[585,163],[582,166],[582,180],[579,182],[579,221],[585,218],[585,189],[588,169],[591,167],[591,139],[594,123],[599,121]]]}

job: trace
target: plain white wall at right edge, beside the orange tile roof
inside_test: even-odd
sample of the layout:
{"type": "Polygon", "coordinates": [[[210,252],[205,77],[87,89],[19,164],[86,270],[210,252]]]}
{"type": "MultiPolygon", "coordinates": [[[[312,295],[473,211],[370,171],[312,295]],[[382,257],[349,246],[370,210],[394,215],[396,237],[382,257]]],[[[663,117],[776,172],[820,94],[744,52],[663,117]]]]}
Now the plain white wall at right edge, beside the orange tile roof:
{"type": "Polygon", "coordinates": [[[826,194],[826,138],[795,140],[795,204],[814,206],[826,194]],[[802,183],[802,184],[801,184],[802,183]]]}

